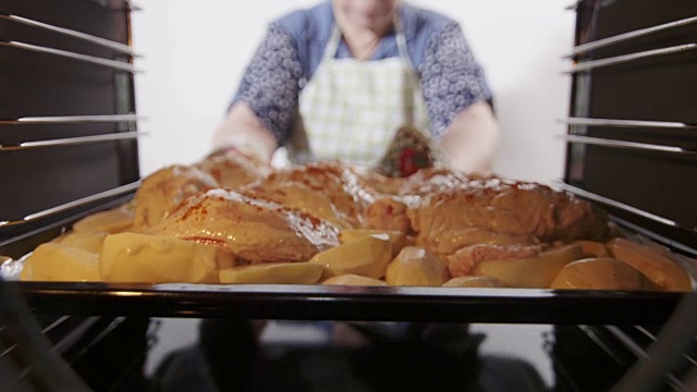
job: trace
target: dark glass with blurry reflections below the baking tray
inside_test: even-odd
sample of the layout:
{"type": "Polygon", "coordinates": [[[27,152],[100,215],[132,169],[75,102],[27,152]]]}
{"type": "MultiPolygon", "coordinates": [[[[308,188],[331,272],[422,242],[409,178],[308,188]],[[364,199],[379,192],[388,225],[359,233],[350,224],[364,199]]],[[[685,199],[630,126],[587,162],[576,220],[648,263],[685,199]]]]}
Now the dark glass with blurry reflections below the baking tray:
{"type": "Polygon", "coordinates": [[[331,321],[268,321],[260,334],[240,321],[159,321],[145,372],[162,391],[502,392],[551,391],[555,382],[549,326],[430,324],[416,334],[384,323],[375,336],[331,321]]]}

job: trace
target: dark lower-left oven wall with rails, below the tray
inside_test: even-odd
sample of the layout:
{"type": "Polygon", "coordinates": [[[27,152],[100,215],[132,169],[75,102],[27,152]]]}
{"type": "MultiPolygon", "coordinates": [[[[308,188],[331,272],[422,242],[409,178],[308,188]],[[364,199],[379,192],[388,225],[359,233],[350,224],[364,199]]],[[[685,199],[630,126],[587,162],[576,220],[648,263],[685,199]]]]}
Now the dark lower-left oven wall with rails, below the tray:
{"type": "Polygon", "coordinates": [[[35,316],[16,289],[5,284],[0,285],[0,301],[3,389],[144,390],[146,381],[139,368],[157,342],[157,321],[35,316]]]}

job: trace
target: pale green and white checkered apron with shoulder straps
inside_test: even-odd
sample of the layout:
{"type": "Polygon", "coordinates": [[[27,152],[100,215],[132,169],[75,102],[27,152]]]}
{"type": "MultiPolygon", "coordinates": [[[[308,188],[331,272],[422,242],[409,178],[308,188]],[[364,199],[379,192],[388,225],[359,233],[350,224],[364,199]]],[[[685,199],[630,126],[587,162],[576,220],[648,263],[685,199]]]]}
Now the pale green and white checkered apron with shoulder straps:
{"type": "Polygon", "coordinates": [[[400,57],[375,61],[335,59],[341,32],[332,28],[322,59],[299,95],[289,146],[292,162],[339,159],[374,167],[400,126],[428,128],[419,76],[395,21],[400,57]]]}

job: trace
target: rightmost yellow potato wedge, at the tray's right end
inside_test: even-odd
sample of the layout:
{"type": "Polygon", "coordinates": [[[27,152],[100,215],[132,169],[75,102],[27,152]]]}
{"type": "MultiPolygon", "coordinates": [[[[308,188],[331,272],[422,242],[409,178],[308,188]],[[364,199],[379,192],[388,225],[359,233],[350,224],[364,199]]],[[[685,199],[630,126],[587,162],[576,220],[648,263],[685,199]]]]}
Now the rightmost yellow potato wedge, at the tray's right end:
{"type": "Polygon", "coordinates": [[[678,292],[693,290],[687,272],[650,247],[625,238],[614,238],[606,245],[614,258],[639,270],[661,290],[678,292]]]}

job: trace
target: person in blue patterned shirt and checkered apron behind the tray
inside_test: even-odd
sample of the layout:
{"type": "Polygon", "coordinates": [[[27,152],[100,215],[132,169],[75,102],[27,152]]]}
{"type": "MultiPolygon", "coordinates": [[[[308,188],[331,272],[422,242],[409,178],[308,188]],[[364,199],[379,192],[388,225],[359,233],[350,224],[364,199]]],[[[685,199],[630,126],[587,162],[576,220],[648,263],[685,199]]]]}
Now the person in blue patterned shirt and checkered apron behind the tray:
{"type": "Polygon", "coordinates": [[[447,164],[488,173],[491,101],[457,22],[400,0],[329,0],[269,25],[212,148],[375,167],[413,124],[447,164]]]}

